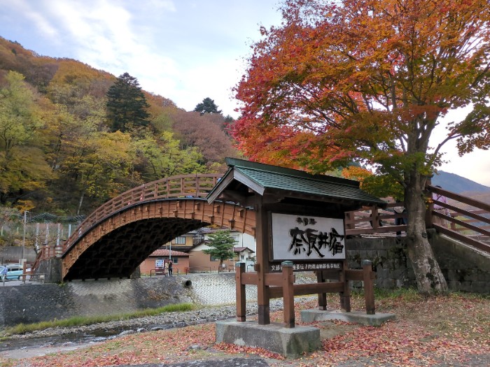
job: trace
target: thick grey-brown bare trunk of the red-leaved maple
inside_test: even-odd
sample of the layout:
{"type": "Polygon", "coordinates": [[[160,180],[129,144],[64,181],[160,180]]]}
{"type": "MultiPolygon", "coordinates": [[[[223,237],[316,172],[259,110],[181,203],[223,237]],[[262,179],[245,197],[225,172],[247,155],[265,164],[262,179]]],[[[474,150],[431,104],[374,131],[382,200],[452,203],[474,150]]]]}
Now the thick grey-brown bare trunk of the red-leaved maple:
{"type": "Polygon", "coordinates": [[[414,174],[405,188],[407,208],[407,250],[412,261],[419,292],[438,294],[447,292],[447,283],[434,257],[426,232],[426,201],[423,185],[418,173],[414,174]],[[415,176],[415,177],[414,177],[415,176]]]}

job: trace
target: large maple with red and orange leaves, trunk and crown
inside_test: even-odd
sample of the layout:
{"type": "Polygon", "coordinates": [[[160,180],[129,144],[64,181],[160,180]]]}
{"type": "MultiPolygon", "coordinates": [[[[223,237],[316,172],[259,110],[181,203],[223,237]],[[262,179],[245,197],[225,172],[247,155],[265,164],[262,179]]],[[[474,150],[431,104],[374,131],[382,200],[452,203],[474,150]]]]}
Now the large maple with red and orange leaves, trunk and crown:
{"type": "Polygon", "coordinates": [[[446,282],[426,236],[426,180],[440,148],[488,149],[487,0],[290,0],[262,29],[246,75],[235,138],[251,159],[323,172],[356,160],[405,189],[407,248],[422,292],[446,282]],[[449,110],[472,106],[429,138],[449,110]]]}

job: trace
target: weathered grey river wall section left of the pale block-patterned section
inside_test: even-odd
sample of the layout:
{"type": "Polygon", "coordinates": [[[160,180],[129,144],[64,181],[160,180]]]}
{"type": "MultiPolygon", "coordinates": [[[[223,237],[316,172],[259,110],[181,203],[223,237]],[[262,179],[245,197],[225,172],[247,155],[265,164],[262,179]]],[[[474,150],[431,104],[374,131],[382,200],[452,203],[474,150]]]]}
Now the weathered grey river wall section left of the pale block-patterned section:
{"type": "Polygon", "coordinates": [[[0,328],[193,302],[182,282],[181,277],[161,277],[0,287],[0,328]]]}

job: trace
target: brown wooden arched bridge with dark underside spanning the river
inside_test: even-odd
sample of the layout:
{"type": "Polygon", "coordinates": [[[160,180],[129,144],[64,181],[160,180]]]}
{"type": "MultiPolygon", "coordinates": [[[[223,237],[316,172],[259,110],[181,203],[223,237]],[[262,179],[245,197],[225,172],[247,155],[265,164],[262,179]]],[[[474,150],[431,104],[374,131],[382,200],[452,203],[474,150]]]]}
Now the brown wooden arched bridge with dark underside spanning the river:
{"type": "Polygon", "coordinates": [[[163,178],[107,201],[58,249],[63,280],[128,278],[162,244],[209,224],[254,236],[253,210],[204,199],[220,177],[163,178]]]}

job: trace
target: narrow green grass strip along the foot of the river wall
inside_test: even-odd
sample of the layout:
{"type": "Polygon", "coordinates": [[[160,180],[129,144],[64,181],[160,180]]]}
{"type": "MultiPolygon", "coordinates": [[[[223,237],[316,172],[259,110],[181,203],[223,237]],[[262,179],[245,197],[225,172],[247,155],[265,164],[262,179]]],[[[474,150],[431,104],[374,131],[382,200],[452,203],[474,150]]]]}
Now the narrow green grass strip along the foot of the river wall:
{"type": "Polygon", "coordinates": [[[36,324],[18,324],[16,326],[4,329],[3,336],[13,334],[25,334],[36,330],[45,330],[55,327],[73,327],[91,324],[99,324],[101,322],[120,321],[127,319],[136,319],[138,317],[155,316],[164,312],[183,312],[190,311],[196,308],[192,303],[178,303],[165,305],[160,308],[146,308],[130,313],[119,315],[100,315],[100,316],[74,316],[69,319],[54,319],[51,321],[37,322],[36,324]]]}

